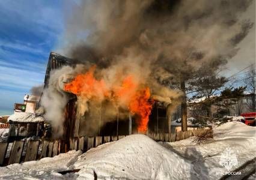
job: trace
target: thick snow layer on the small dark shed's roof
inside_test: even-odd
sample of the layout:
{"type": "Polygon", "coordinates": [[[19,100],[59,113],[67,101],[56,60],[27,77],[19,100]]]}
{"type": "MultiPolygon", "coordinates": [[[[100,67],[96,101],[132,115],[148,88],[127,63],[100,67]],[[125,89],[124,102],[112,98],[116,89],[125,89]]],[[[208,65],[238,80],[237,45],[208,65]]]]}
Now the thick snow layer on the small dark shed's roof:
{"type": "Polygon", "coordinates": [[[42,122],[44,118],[36,113],[14,112],[14,114],[8,118],[8,121],[10,120],[14,122],[42,122]]]}

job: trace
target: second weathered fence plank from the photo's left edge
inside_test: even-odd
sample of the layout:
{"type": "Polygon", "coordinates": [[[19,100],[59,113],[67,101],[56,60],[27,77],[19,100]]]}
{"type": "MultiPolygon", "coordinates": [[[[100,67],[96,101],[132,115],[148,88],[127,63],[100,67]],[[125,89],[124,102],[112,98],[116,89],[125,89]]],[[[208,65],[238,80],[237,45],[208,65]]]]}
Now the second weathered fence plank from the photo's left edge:
{"type": "Polygon", "coordinates": [[[23,140],[17,140],[13,142],[13,147],[11,148],[11,154],[8,164],[20,163],[20,157],[22,155],[23,146],[23,140]]]}

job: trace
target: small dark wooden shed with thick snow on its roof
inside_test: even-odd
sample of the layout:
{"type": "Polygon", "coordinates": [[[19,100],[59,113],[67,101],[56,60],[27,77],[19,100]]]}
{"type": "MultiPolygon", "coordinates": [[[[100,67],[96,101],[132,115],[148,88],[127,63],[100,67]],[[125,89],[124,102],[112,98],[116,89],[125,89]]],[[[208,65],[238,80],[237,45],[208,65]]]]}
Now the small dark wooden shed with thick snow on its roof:
{"type": "Polygon", "coordinates": [[[44,118],[37,113],[14,112],[8,118],[10,124],[9,139],[17,140],[24,137],[43,136],[44,118]]]}

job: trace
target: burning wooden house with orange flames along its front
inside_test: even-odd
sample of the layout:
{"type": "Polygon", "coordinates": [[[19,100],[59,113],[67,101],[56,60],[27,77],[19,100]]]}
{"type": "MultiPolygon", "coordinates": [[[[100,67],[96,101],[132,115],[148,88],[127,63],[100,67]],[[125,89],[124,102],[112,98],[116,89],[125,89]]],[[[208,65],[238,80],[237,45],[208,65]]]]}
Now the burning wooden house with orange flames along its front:
{"type": "MultiPolygon", "coordinates": [[[[50,86],[50,77],[53,73],[62,67],[73,67],[81,64],[81,61],[66,58],[56,53],[50,53],[49,61],[44,80],[44,89],[50,86]]],[[[83,96],[95,93],[92,91],[103,91],[103,95],[112,96],[123,100],[125,95],[129,95],[130,88],[134,88],[133,82],[128,76],[124,79],[123,86],[120,89],[112,88],[111,91],[103,88],[104,83],[93,77],[94,66],[89,68],[85,74],[78,74],[75,77],[68,75],[61,78],[62,89],[67,95],[67,101],[64,107],[64,119],[62,121],[62,137],[69,139],[70,137],[79,136],[117,136],[128,135],[133,133],[168,133],[169,126],[166,116],[166,103],[154,100],[150,97],[149,89],[145,88],[136,92],[136,96],[132,97],[128,109],[125,106],[115,106],[112,99],[105,98],[104,100],[86,101],[83,96]],[[79,82],[79,79],[83,79],[79,82]],[[84,92],[81,92],[81,83],[88,85],[83,87],[84,92]],[[94,83],[94,84],[93,84],[94,83]],[[93,89],[93,87],[95,89],[93,89]],[[124,88],[123,88],[124,87],[124,88]],[[126,89],[127,88],[127,89],[126,89]],[[87,107],[85,107],[87,104],[87,107]],[[85,110],[86,109],[86,110],[85,110]],[[138,122],[140,118],[140,122],[138,122]]],[[[59,82],[59,80],[58,80],[59,82]]],[[[44,95],[41,97],[43,104],[44,95]]],[[[168,105],[168,104],[167,104],[168,105]]],[[[46,107],[44,105],[44,107],[46,107]]],[[[47,109],[46,109],[47,112],[47,109]]],[[[47,115],[44,116],[47,120],[47,115]]],[[[54,122],[53,122],[54,129],[54,122]]]]}

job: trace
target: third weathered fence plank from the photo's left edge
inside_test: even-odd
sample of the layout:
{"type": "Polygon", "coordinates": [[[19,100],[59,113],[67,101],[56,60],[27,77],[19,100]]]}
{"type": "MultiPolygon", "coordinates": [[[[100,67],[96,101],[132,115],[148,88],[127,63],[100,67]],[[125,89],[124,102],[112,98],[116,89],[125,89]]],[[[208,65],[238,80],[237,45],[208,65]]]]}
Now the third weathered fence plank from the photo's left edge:
{"type": "Polygon", "coordinates": [[[26,149],[25,161],[37,160],[38,147],[39,147],[39,140],[29,140],[28,148],[26,149]]]}

